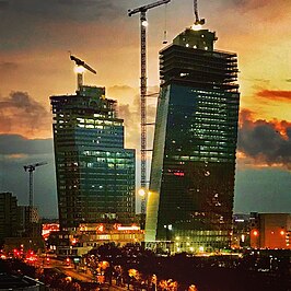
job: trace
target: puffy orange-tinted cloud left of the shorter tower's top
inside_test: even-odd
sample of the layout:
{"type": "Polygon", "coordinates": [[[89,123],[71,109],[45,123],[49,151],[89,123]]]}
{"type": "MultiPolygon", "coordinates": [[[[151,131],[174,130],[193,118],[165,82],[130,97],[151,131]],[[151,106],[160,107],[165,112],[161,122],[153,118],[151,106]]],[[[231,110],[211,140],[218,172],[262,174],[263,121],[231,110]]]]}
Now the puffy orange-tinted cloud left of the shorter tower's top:
{"type": "Polygon", "coordinates": [[[50,132],[51,115],[25,92],[0,98],[0,132],[42,136],[50,132]]]}

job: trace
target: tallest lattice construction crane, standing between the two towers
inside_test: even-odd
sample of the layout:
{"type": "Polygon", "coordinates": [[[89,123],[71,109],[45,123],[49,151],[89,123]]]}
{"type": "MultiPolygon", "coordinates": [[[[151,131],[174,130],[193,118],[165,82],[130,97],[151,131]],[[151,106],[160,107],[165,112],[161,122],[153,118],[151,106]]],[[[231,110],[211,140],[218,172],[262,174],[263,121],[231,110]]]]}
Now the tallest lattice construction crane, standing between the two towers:
{"type": "MultiPolygon", "coordinates": [[[[128,10],[128,16],[140,13],[140,115],[141,115],[141,136],[140,136],[140,153],[141,153],[141,189],[147,184],[147,11],[159,5],[167,4],[171,0],[161,0],[154,3],[128,10]]],[[[141,197],[141,213],[146,214],[146,195],[141,197]]]]}

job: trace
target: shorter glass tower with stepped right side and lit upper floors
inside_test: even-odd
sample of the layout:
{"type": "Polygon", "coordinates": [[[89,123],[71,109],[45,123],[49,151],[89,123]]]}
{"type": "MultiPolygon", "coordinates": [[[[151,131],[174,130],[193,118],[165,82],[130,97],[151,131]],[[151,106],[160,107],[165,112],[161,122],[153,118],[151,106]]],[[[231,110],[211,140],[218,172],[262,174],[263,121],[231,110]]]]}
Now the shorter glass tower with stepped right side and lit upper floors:
{"type": "Polygon", "coordinates": [[[124,120],[105,88],[51,96],[61,230],[81,222],[130,223],[135,216],[135,150],[124,149],[124,120]]]}

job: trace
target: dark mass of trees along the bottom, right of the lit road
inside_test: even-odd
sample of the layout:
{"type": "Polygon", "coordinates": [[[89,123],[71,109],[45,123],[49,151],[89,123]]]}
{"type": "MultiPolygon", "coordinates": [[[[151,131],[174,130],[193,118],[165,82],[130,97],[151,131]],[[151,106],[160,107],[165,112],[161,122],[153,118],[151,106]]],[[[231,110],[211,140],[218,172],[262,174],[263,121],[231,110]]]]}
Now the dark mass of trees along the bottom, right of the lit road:
{"type": "Polygon", "coordinates": [[[243,257],[194,257],[187,254],[158,256],[138,244],[124,247],[104,244],[92,249],[86,260],[93,272],[101,271],[101,261],[108,261],[104,270],[106,281],[121,277],[125,283],[130,282],[136,289],[173,291],[174,288],[184,291],[195,286],[199,291],[291,290],[290,252],[270,254],[249,252],[243,257]],[[132,269],[137,270],[136,276],[129,275],[132,269]],[[156,276],[154,287],[153,275],[156,276]],[[177,284],[167,287],[167,281],[177,284]]]}

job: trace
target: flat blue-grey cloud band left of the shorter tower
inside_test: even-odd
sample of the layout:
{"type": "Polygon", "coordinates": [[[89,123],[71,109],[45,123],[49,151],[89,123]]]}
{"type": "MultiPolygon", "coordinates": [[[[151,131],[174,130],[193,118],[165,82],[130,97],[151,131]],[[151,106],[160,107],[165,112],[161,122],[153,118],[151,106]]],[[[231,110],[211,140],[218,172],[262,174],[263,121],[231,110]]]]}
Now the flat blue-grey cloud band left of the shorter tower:
{"type": "Polygon", "coordinates": [[[20,135],[0,135],[0,154],[47,154],[53,153],[53,139],[26,139],[20,135]]]}

